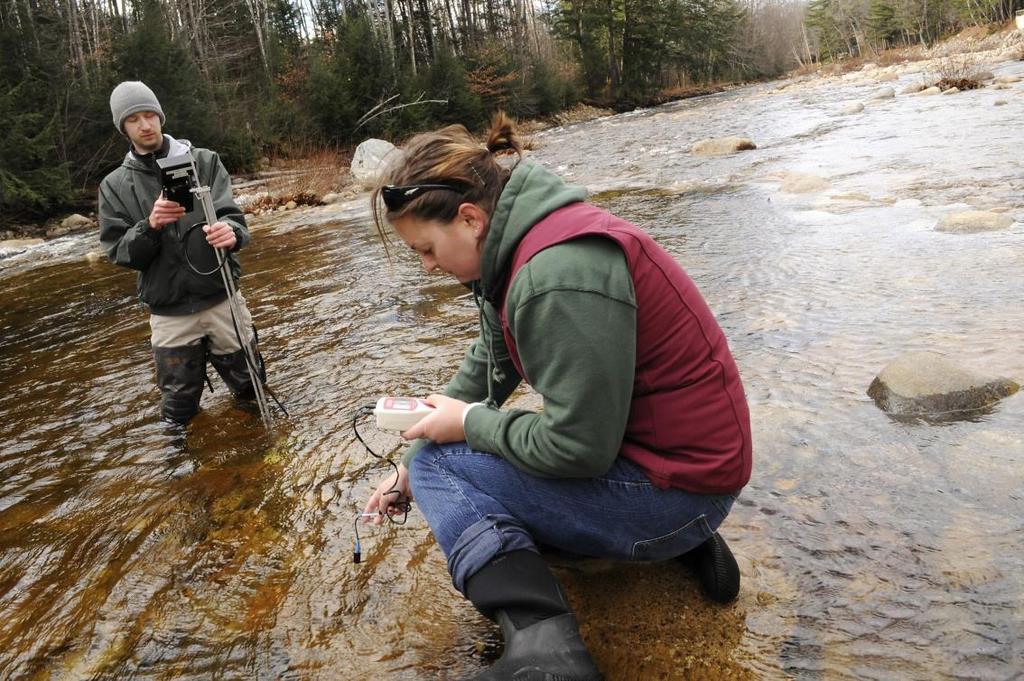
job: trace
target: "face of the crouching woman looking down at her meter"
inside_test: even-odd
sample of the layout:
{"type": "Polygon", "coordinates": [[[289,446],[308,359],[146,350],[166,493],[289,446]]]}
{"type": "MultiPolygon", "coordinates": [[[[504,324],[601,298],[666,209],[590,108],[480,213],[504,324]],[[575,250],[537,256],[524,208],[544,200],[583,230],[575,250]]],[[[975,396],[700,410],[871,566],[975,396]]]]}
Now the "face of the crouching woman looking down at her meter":
{"type": "Polygon", "coordinates": [[[475,204],[462,204],[447,223],[403,215],[392,219],[391,226],[419,254],[426,271],[439,269],[463,284],[480,279],[487,217],[475,204]]]}

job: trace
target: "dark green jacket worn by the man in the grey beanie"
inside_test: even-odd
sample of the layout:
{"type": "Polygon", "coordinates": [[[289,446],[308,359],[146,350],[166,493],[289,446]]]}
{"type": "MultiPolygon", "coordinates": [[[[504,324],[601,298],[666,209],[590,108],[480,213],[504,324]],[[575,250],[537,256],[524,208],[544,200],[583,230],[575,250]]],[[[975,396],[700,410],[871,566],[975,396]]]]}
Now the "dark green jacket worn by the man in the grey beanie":
{"type": "MultiPolygon", "coordinates": [[[[163,229],[150,226],[150,213],[161,193],[156,159],[186,154],[189,147],[187,140],[165,135],[162,150],[145,156],[129,151],[121,166],[99,184],[100,244],[111,262],[138,270],[138,297],[155,314],[191,314],[216,305],[227,296],[219,272],[198,274],[184,258],[185,231],[193,224],[206,221],[198,198],[194,210],[177,222],[163,229]]],[[[231,198],[230,175],[215,153],[199,147],[190,151],[200,180],[210,187],[217,218],[234,231],[238,242],[234,251],[238,251],[249,243],[250,237],[245,215],[231,198]]],[[[198,269],[209,271],[217,263],[213,250],[204,248],[201,238],[190,237],[188,253],[198,269]]],[[[230,253],[228,260],[238,285],[241,274],[238,258],[230,253]]]]}

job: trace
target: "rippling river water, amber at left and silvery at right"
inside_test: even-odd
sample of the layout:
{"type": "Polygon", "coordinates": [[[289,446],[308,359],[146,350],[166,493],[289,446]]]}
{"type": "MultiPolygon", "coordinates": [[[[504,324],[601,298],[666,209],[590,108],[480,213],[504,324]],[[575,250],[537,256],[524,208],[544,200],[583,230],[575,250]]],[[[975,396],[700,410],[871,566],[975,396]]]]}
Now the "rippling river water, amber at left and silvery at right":
{"type": "MultiPolygon", "coordinates": [[[[1024,218],[1024,88],[838,114],[871,89],[744,88],[536,138],[535,158],[694,278],[755,428],[722,528],[736,604],[705,604],[666,566],[559,567],[609,679],[1024,669],[1024,397],[935,426],[865,394],[907,350],[1024,377],[1024,226],[933,228],[971,206],[1024,218]],[[728,134],[759,148],[687,153],[728,134]],[[787,172],[830,185],[785,194],[787,172]]],[[[404,249],[389,264],[362,205],[258,218],[254,235],[242,288],[291,412],[270,434],[219,384],[187,433],[158,422],[133,275],[87,257],[94,236],[0,261],[0,677],[460,678],[496,654],[415,510],[368,529],[351,562],[384,472],[353,413],[443,386],[471,298],[404,249]]]]}

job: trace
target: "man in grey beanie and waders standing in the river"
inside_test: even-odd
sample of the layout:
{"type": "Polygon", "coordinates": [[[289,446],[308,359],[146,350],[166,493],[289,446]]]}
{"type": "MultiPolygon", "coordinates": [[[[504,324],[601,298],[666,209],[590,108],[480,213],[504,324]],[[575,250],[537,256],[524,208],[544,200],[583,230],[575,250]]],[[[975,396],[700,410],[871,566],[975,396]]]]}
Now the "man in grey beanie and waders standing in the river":
{"type": "MultiPolygon", "coordinates": [[[[186,213],[165,199],[157,160],[189,154],[195,159],[218,218],[202,230],[210,246],[224,250],[236,287],[241,267],[234,253],[249,243],[249,230],[218,156],[163,134],[164,111],[144,83],[126,81],[115,87],[111,114],[131,146],[99,185],[99,241],[111,262],[138,271],[138,297],[151,312],[161,417],[185,424],[199,412],[208,355],[236,397],[254,396],[242,343],[253,343],[255,334],[241,293],[236,295],[242,318],[232,320],[213,251],[202,244],[198,229],[189,231],[205,222],[201,203],[194,202],[193,212],[186,213]],[[197,271],[197,262],[204,264],[202,270],[213,269],[212,274],[197,271]]],[[[262,372],[262,359],[258,364],[262,372]]]]}

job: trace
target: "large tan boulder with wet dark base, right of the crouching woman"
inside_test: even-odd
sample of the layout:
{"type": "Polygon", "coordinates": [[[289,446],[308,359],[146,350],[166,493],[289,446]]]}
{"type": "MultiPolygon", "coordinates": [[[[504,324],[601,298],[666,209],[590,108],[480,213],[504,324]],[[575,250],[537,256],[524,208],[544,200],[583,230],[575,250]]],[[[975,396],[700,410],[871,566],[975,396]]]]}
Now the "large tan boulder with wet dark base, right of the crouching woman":
{"type": "Polygon", "coordinates": [[[899,417],[951,420],[992,407],[1020,390],[1010,379],[962,369],[934,352],[908,352],[871,381],[867,394],[899,417]]]}

